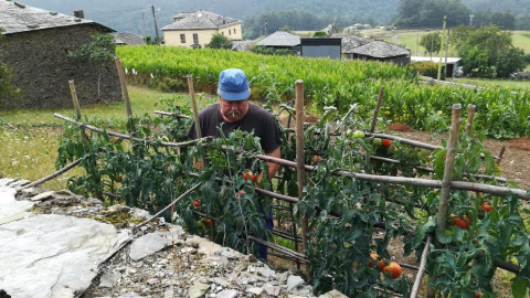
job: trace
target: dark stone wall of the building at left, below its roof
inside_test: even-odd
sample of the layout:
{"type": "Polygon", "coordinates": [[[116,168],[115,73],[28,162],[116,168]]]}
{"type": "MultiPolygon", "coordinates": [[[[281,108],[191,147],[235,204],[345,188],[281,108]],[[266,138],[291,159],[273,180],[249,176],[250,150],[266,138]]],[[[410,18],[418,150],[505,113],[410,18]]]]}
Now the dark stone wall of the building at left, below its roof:
{"type": "Polygon", "coordinates": [[[80,24],[6,35],[0,42],[0,56],[13,71],[12,84],[22,93],[17,98],[0,98],[0,108],[73,107],[70,79],[75,81],[81,105],[120,100],[121,89],[114,62],[95,67],[75,62],[67,55],[92,41],[95,33],[105,32],[94,24],[80,24]]]}

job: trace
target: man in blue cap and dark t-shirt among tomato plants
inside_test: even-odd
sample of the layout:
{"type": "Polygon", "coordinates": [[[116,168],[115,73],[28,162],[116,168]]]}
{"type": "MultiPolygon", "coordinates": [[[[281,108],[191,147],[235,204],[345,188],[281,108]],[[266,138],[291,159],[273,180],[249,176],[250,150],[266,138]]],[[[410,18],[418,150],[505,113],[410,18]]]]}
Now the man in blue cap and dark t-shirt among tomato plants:
{"type": "MultiPolygon", "coordinates": [[[[208,106],[199,113],[199,124],[202,137],[221,137],[218,127],[227,136],[231,131],[241,129],[254,131],[259,138],[262,149],[266,156],[280,158],[279,130],[273,116],[262,107],[250,104],[251,88],[245,73],[239,68],[222,71],[219,75],[218,85],[219,103],[208,106]]],[[[188,131],[188,137],[197,138],[195,124],[188,131]]],[[[278,171],[279,164],[267,162],[268,178],[272,179],[278,171]]],[[[257,181],[261,181],[263,173],[259,173],[257,181]]],[[[273,230],[273,211],[264,213],[265,226],[273,230]]],[[[259,256],[267,259],[267,247],[259,245],[259,256]]]]}

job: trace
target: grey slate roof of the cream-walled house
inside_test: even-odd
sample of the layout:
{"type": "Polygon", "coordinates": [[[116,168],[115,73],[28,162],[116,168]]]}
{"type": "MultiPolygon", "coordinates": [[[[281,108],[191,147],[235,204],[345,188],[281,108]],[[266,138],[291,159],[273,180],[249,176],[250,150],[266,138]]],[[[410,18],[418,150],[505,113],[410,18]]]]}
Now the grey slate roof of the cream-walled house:
{"type": "Polygon", "coordinates": [[[224,17],[214,12],[199,10],[195,12],[182,12],[174,18],[182,18],[172,24],[162,28],[162,31],[170,30],[193,30],[193,29],[220,29],[227,25],[241,23],[240,20],[224,17]]]}

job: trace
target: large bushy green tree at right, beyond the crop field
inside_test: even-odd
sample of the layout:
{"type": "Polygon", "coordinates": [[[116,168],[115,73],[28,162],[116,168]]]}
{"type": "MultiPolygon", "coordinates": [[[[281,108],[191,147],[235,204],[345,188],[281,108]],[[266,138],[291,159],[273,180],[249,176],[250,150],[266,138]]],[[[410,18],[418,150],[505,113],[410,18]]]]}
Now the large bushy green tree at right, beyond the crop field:
{"type": "Polygon", "coordinates": [[[468,73],[480,77],[508,77],[524,70],[524,51],[513,46],[512,34],[496,25],[459,26],[452,40],[468,73]]]}

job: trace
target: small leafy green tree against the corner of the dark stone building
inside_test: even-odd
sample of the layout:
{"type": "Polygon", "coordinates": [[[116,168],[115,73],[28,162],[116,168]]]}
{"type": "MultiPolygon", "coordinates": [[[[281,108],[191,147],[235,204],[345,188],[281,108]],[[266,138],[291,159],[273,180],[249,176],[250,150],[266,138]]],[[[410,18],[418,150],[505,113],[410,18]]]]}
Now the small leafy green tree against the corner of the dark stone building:
{"type": "MultiPolygon", "coordinates": [[[[116,43],[110,34],[96,33],[92,36],[92,41],[82,44],[80,49],[68,53],[68,56],[80,63],[89,63],[96,68],[105,66],[114,61],[116,53],[116,43]]],[[[100,93],[102,74],[98,71],[97,75],[97,97],[102,98],[100,93]]]]}

